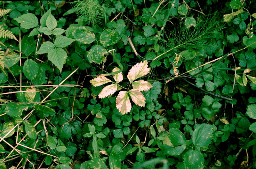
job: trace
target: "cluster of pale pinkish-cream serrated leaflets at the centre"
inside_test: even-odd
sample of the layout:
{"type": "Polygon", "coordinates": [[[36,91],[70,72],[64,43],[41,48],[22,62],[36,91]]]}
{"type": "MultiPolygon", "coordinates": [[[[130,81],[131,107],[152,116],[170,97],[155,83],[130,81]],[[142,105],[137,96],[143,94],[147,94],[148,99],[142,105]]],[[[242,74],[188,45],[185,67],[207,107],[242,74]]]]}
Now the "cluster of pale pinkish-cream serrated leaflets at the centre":
{"type": "MultiPolygon", "coordinates": [[[[112,70],[112,72],[116,72],[118,70],[120,69],[116,67],[112,70]]],[[[142,106],[142,107],[145,106],[146,99],[141,92],[148,91],[149,89],[152,88],[152,85],[149,82],[144,80],[138,80],[138,81],[134,81],[134,80],[147,75],[148,72],[149,72],[149,68],[148,68],[148,62],[146,60],[143,62],[137,63],[136,65],[132,66],[132,69],[129,70],[127,78],[132,84],[133,89],[119,92],[116,98],[116,108],[119,110],[119,112],[121,112],[122,114],[126,114],[131,111],[132,104],[130,102],[129,96],[132,98],[132,101],[136,105],[142,106]]],[[[119,86],[118,83],[121,82],[124,77],[120,72],[113,75],[113,78],[115,82],[111,81],[110,79],[104,76],[98,76],[90,80],[91,84],[95,87],[104,85],[109,82],[112,83],[111,85],[108,85],[101,90],[99,94],[99,98],[105,98],[105,97],[108,97],[109,95],[114,94],[117,90],[117,87],[119,86]]]]}

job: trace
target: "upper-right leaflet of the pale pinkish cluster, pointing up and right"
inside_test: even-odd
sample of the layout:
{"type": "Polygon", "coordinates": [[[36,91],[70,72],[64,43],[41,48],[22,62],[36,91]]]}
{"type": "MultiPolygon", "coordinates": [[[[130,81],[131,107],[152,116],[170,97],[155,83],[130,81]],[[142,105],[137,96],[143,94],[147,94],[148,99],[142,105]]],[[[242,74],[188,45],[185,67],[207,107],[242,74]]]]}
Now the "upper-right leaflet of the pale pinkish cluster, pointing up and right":
{"type": "Polygon", "coordinates": [[[133,82],[135,79],[145,76],[146,74],[148,74],[148,72],[148,61],[145,60],[132,66],[132,69],[129,70],[127,77],[130,82],[133,82]]]}

